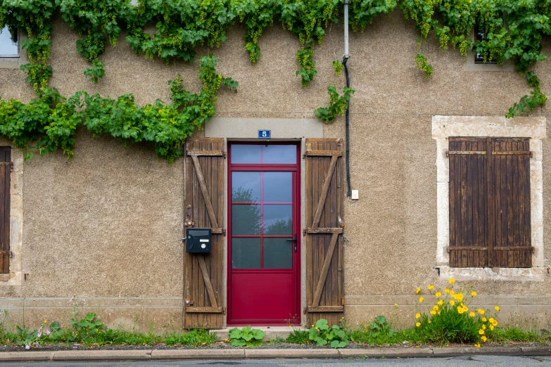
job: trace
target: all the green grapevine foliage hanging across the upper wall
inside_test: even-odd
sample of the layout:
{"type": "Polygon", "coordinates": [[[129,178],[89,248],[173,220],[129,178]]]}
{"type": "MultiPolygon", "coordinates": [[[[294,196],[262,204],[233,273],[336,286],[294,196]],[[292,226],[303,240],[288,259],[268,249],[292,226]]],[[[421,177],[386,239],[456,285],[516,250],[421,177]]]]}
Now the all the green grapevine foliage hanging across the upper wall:
{"type": "MultiPolygon", "coordinates": [[[[18,122],[16,128],[12,122],[6,120],[7,117],[4,117],[4,120],[1,120],[3,126],[0,133],[11,136],[21,147],[30,146],[30,142],[36,139],[34,141],[38,143],[35,148],[41,153],[61,148],[66,154],[71,155],[74,142],[69,133],[84,124],[94,132],[112,134],[125,141],[151,141],[155,143],[160,157],[172,160],[179,154],[179,148],[175,147],[182,141],[182,136],[188,136],[190,133],[189,126],[202,126],[214,113],[217,87],[214,80],[205,82],[208,79],[205,73],[208,70],[213,71],[203,65],[205,62],[215,63],[215,59],[210,57],[201,59],[201,75],[205,79],[199,94],[192,95],[183,90],[172,94],[176,99],[180,98],[179,96],[191,98],[184,98],[180,104],[175,101],[170,105],[159,102],[139,108],[134,104],[131,95],[121,96],[115,100],[89,96],[86,92],[79,92],[78,96],[70,98],[59,95],[56,89],[48,86],[52,75],[48,58],[52,46],[53,13],[59,12],[63,20],[80,35],[76,45],[77,51],[90,63],[90,67],[84,70],[84,75],[94,83],[99,82],[105,75],[105,65],[100,58],[107,42],[111,46],[116,46],[123,31],[127,34],[125,41],[139,55],[151,59],[160,58],[164,63],[170,63],[175,59],[191,62],[196,57],[198,46],[220,46],[226,39],[227,29],[239,22],[246,31],[245,49],[249,53],[251,63],[255,64],[260,60],[258,41],[266,28],[277,20],[284,29],[298,37],[300,49],[296,53],[296,75],[300,77],[302,86],[308,86],[317,74],[315,46],[322,44],[328,27],[338,24],[339,10],[343,2],[344,0],[139,0],[137,6],[134,6],[130,0],[0,0],[0,29],[7,25],[10,32],[20,30],[27,33],[27,40],[22,42],[22,46],[27,50],[30,63],[21,68],[26,74],[25,80],[32,84],[38,95],[36,100],[27,105],[15,100],[1,101],[4,116],[9,115],[6,115],[8,110],[15,115],[25,110],[25,113],[34,116],[34,120],[18,122]],[[100,130],[96,130],[89,122],[91,112],[99,111],[108,116],[113,108],[119,111],[117,113],[122,113],[120,111],[123,110],[141,111],[140,116],[145,116],[143,124],[148,122],[148,125],[133,120],[133,125],[128,127],[128,131],[119,131],[115,125],[111,126],[105,122],[100,130]],[[199,115],[191,114],[191,110],[199,115]],[[153,114],[151,111],[156,112],[153,114]],[[181,126],[176,124],[181,131],[175,134],[177,138],[172,141],[172,138],[163,137],[166,127],[169,126],[161,124],[164,120],[160,115],[165,113],[178,122],[179,114],[186,116],[182,117],[184,120],[187,118],[186,121],[194,122],[190,122],[191,125],[183,122],[181,126]],[[59,117],[60,114],[63,118],[59,117]],[[73,115],[77,117],[72,119],[73,115]],[[151,133],[151,129],[158,129],[158,134],[151,133]],[[134,134],[137,130],[150,132],[134,134]],[[65,134],[65,131],[69,132],[65,134]]],[[[510,60],[519,73],[526,75],[526,81],[533,91],[530,95],[520,98],[518,103],[514,103],[512,108],[509,108],[507,117],[529,112],[545,104],[547,98],[541,92],[540,79],[534,74],[533,65],[547,58],[541,53],[541,49],[543,37],[551,34],[551,1],[348,2],[350,25],[353,30],[365,30],[377,16],[388,14],[399,7],[405,18],[412,20],[419,30],[419,45],[429,36],[433,36],[443,51],[452,46],[458,49],[463,57],[467,56],[468,49],[473,49],[485,61],[495,60],[502,64],[505,60],[510,60]],[[484,36],[473,42],[471,34],[475,25],[484,36]]],[[[415,63],[427,77],[430,76],[432,67],[422,53],[417,53],[415,63]]],[[[335,67],[337,70],[340,66],[336,64],[335,67]]],[[[224,84],[232,84],[230,79],[221,77],[221,80],[224,84]]],[[[176,86],[171,84],[171,88],[176,86]]],[[[344,90],[343,94],[339,95],[334,86],[329,86],[328,91],[329,108],[327,111],[317,110],[317,115],[326,122],[334,120],[334,116],[343,110],[342,106],[348,101],[346,96],[351,95],[351,90],[344,90]]],[[[17,116],[19,121],[26,121],[26,117],[17,116]]],[[[100,119],[99,115],[94,119],[100,119]]],[[[115,121],[122,124],[122,120],[115,121]]]]}

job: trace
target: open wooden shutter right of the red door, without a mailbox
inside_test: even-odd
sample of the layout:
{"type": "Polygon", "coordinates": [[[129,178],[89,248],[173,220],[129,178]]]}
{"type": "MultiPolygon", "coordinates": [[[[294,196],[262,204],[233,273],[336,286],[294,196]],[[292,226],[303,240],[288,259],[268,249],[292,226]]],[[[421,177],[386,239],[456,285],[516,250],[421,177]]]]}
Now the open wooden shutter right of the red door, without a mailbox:
{"type": "Polygon", "coordinates": [[[306,139],[307,325],[344,311],[342,139],[306,139]]]}

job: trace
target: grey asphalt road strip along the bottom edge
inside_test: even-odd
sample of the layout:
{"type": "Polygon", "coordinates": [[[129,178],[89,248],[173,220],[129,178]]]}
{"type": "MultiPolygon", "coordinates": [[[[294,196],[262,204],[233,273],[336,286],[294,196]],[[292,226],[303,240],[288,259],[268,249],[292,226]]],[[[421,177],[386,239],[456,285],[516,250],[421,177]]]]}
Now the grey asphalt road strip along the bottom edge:
{"type": "Polygon", "coordinates": [[[175,367],[175,366],[201,366],[201,367],[315,367],[324,365],[327,367],[531,367],[551,366],[551,357],[526,357],[526,356],[457,356],[450,358],[414,358],[414,359],[258,359],[258,360],[227,360],[227,361],[148,361],[148,362],[78,362],[78,363],[0,363],[1,367],[8,366],[44,366],[44,367],[175,367]]]}

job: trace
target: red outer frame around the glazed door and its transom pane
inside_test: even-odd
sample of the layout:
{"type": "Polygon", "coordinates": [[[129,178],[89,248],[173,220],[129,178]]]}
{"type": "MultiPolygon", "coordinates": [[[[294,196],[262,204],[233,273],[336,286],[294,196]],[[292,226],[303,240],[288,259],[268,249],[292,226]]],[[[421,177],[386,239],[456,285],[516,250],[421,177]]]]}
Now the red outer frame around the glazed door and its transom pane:
{"type": "Polygon", "coordinates": [[[286,326],[286,325],[293,325],[293,326],[300,326],[302,322],[302,311],[301,306],[303,303],[303,292],[302,292],[302,283],[301,279],[303,277],[302,272],[302,262],[303,262],[303,253],[301,251],[301,245],[303,240],[303,233],[302,233],[302,224],[303,224],[303,215],[301,211],[301,203],[303,200],[303,187],[302,187],[302,174],[303,174],[303,162],[300,159],[301,152],[303,150],[303,139],[300,141],[226,141],[226,149],[227,149],[227,186],[226,186],[226,198],[227,202],[225,203],[225,210],[227,211],[227,242],[226,242],[226,266],[227,269],[225,271],[226,275],[226,325],[227,326],[247,326],[247,325],[254,325],[254,326],[286,326]],[[270,166],[264,166],[262,164],[236,164],[232,165],[232,146],[236,145],[293,145],[296,146],[296,163],[295,164],[272,164],[270,166]],[[233,169],[237,168],[237,169],[233,169]],[[241,168],[241,169],[239,169],[241,168]],[[250,168],[250,169],[244,169],[244,168],[250,168]],[[289,169],[292,168],[292,169],[289,169]],[[266,323],[266,322],[248,322],[248,323],[235,323],[230,320],[230,316],[232,314],[232,264],[231,264],[231,237],[232,237],[232,172],[235,171],[278,171],[281,169],[286,169],[287,172],[295,172],[296,176],[296,182],[293,182],[293,191],[295,193],[295,208],[293,208],[293,233],[296,233],[297,235],[297,252],[294,255],[293,259],[293,284],[295,288],[295,293],[293,297],[294,300],[294,307],[296,308],[297,312],[297,318],[296,321],[293,323],[289,322],[281,322],[281,323],[266,323]]]}

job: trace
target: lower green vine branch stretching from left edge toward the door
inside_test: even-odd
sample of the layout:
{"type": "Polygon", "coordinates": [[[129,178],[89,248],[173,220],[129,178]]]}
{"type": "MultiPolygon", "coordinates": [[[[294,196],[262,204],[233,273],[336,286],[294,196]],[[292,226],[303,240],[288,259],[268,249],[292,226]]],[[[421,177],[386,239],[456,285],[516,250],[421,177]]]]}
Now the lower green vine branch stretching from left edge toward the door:
{"type": "MultiPolygon", "coordinates": [[[[213,56],[201,58],[198,94],[184,89],[182,78],[171,80],[171,103],[157,100],[139,107],[132,94],[103,98],[78,91],[70,98],[57,89],[42,87],[41,98],[23,103],[13,98],[0,101],[0,134],[23,150],[40,155],[61,149],[71,159],[75,133],[84,126],[94,136],[108,134],[126,144],[146,141],[158,157],[172,163],[184,152],[182,144],[194,129],[203,128],[215,114],[220,86],[236,89],[237,82],[216,73],[213,56]]],[[[32,153],[27,155],[32,157],[32,153]]]]}

